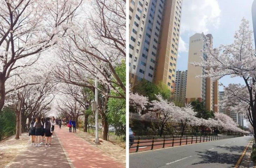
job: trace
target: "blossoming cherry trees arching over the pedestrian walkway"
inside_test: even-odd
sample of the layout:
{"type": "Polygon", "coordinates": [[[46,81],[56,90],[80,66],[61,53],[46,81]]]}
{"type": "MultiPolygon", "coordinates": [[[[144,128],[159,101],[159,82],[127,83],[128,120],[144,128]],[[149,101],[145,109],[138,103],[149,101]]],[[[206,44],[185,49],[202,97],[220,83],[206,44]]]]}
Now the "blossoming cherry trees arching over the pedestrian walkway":
{"type": "Polygon", "coordinates": [[[0,110],[15,112],[17,139],[27,120],[53,115],[53,107],[61,118],[83,116],[87,131],[95,79],[102,138],[107,140],[109,124],[124,134],[125,4],[0,1],[0,110]]]}

